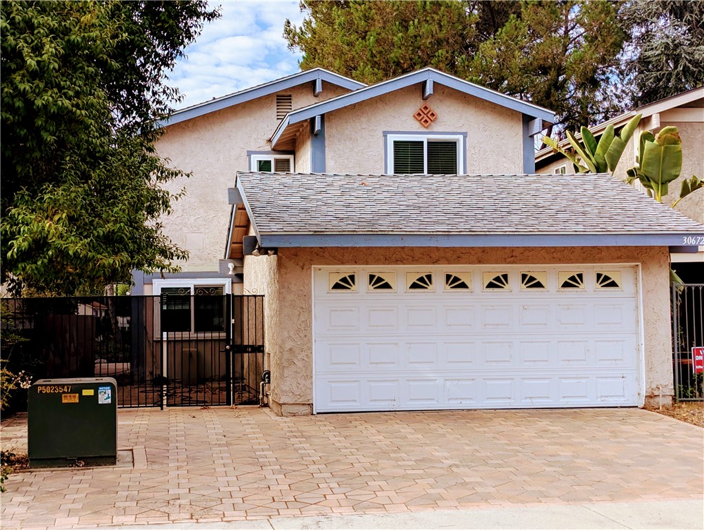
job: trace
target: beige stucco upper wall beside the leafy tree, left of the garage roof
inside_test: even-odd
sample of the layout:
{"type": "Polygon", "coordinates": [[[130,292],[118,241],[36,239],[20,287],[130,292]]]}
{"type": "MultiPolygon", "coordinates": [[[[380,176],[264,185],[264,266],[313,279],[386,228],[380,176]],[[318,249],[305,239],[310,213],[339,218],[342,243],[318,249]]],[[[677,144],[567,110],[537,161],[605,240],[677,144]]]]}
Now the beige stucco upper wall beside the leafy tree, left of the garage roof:
{"type": "MultiPolygon", "coordinates": [[[[297,109],[347,92],[329,83],[323,88],[319,97],[313,97],[312,83],[280,93],[291,94],[297,109]]],[[[237,171],[249,171],[247,151],[271,149],[268,139],[278,123],[276,94],[271,94],[166,128],[156,151],[169,166],[192,173],[165,185],[186,194],[173,204],[173,213],[161,219],[164,233],[190,253],[184,271],[218,270],[230,218],[227,188],[234,186],[237,171]]]]}

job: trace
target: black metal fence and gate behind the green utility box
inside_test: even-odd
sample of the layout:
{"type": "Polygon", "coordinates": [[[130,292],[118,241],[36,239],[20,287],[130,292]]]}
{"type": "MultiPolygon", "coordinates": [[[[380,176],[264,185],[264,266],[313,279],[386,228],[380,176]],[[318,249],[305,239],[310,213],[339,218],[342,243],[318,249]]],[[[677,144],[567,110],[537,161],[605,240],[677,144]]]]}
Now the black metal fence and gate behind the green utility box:
{"type": "Polygon", "coordinates": [[[32,381],[113,377],[120,407],[258,402],[263,296],[17,298],[1,309],[4,366],[32,381]]]}

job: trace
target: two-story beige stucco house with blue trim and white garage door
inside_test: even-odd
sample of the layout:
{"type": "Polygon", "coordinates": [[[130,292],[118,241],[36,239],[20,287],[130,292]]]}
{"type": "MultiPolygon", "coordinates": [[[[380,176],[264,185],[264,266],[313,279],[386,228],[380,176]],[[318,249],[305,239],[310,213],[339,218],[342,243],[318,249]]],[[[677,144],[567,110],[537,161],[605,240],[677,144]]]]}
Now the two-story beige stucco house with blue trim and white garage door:
{"type": "Polygon", "coordinates": [[[133,292],[265,295],[277,414],[667,402],[669,252],[704,226],[610,175],[536,175],[553,120],[432,68],[180,111],[157,149],[193,172],[165,220],[191,259],[133,292]]]}

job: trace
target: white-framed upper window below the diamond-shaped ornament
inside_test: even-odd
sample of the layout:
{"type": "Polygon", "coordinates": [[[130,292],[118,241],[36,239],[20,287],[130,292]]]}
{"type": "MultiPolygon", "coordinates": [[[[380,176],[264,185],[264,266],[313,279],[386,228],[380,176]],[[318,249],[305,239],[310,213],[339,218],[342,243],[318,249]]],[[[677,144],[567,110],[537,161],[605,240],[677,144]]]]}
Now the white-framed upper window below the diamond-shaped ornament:
{"type": "Polygon", "coordinates": [[[464,135],[388,135],[387,173],[464,173],[464,135]]]}

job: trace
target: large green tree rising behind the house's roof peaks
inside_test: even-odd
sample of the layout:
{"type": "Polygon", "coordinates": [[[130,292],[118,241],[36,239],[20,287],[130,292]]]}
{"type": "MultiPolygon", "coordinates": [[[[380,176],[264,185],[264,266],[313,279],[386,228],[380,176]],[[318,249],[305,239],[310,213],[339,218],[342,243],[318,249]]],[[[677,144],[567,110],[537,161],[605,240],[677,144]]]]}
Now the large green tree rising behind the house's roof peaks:
{"type": "Polygon", "coordinates": [[[321,66],[378,82],[432,66],[558,113],[574,128],[624,110],[617,90],[627,34],[615,1],[301,1],[284,36],[321,66]]]}

